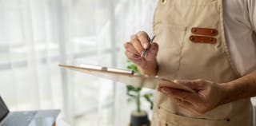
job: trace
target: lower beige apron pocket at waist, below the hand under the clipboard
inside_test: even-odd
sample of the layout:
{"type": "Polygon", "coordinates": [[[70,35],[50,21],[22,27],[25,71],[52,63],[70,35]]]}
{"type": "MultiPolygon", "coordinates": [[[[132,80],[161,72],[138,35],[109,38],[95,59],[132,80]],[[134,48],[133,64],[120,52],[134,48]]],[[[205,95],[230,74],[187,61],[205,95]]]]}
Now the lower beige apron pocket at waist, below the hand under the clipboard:
{"type": "Polygon", "coordinates": [[[188,116],[179,116],[163,108],[158,109],[159,124],[166,126],[229,126],[228,120],[206,120],[188,116]]]}

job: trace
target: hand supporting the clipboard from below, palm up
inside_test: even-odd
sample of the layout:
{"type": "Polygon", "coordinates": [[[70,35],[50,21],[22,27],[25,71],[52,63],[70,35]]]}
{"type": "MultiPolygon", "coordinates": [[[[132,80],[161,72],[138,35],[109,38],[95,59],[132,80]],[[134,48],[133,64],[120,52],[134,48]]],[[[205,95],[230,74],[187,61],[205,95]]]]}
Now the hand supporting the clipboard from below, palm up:
{"type": "Polygon", "coordinates": [[[174,103],[182,108],[186,108],[194,116],[202,115],[213,108],[222,104],[225,97],[225,89],[222,85],[211,81],[194,80],[194,81],[174,81],[178,85],[185,85],[196,93],[189,93],[179,89],[166,88],[166,84],[160,84],[158,91],[169,96],[174,103]]]}

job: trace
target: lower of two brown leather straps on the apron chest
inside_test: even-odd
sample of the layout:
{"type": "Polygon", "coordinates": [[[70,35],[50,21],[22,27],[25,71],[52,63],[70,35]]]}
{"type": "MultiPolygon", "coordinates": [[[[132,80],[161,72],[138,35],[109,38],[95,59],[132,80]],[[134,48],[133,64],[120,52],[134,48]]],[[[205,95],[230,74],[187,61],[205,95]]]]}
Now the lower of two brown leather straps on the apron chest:
{"type": "Polygon", "coordinates": [[[195,43],[210,43],[215,44],[217,39],[215,37],[202,37],[202,36],[190,36],[190,41],[195,43]]]}

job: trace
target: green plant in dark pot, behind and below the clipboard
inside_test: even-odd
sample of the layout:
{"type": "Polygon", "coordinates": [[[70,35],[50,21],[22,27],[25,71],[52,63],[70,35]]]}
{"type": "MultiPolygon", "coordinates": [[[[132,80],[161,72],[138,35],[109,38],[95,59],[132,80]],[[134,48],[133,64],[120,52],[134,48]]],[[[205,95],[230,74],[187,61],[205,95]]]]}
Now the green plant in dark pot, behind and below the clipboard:
{"type": "MultiPolygon", "coordinates": [[[[130,60],[127,61],[127,69],[134,70],[134,73],[140,74],[136,65],[134,65],[130,60]]],[[[153,93],[143,93],[142,87],[134,87],[132,85],[127,85],[126,94],[130,97],[129,100],[134,100],[136,103],[136,110],[131,112],[130,116],[130,126],[150,126],[150,120],[148,118],[147,112],[142,110],[141,103],[142,98],[144,98],[150,104],[150,109],[153,108],[153,93]]]]}

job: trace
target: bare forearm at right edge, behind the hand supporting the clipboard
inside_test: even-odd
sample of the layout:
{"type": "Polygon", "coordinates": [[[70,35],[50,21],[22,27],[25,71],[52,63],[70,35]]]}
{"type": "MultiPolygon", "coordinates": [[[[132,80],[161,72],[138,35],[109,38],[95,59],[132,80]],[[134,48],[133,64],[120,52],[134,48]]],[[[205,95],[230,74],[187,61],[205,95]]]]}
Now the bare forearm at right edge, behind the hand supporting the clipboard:
{"type": "Polygon", "coordinates": [[[225,90],[222,104],[256,96],[256,70],[235,81],[220,84],[225,90]]]}

